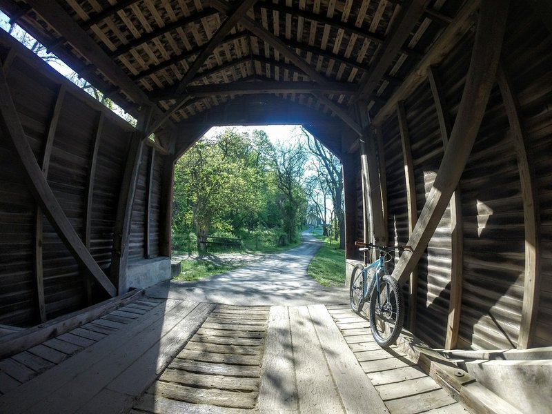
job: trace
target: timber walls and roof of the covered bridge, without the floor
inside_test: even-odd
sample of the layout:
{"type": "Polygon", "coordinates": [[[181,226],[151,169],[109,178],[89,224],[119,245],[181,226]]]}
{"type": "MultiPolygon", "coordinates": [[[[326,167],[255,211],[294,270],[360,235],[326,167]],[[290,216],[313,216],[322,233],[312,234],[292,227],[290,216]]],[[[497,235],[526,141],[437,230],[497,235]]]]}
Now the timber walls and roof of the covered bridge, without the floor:
{"type": "Polygon", "coordinates": [[[262,124],[303,125],[342,161],[348,262],[359,239],[413,246],[393,275],[415,337],[552,346],[549,1],[0,10],[137,119],[0,32],[1,355],[19,328],[170,277],[175,160],[211,126],[262,124]]]}

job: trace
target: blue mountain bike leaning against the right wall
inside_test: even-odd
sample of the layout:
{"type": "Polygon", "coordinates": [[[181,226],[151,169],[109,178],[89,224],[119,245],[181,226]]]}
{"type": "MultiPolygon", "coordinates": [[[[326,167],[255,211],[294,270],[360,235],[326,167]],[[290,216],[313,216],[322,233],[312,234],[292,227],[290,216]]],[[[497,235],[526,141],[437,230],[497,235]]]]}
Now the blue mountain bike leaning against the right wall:
{"type": "Polygon", "coordinates": [[[377,246],[372,243],[355,242],[361,252],[375,248],[380,257],[373,263],[357,264],[351,275],[349,295],[351,308],[359,314],[368,305],[368,320],[375,342],[386,348],[393,344],[404,322],[404,299],[397,280],[385,266],[393,259],[394,250],[411,250],[411,246],[377,246]]]}

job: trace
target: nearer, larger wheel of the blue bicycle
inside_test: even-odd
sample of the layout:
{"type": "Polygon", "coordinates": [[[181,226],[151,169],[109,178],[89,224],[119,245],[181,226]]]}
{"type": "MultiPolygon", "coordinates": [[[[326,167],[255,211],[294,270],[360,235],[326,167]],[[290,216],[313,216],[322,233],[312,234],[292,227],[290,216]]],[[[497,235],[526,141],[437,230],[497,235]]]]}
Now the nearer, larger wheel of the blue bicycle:
{"type": "Polygon", "coordinates": [[[374,288],[370,297],[370,329],[375,342],[382,348],[387,348],[395,343],[401,333],[404,322],[404,300],[397,280],[391,275],[384,275],[380,279],[381,309],[377,309],[377,294],[377,289],[374,288]]]}

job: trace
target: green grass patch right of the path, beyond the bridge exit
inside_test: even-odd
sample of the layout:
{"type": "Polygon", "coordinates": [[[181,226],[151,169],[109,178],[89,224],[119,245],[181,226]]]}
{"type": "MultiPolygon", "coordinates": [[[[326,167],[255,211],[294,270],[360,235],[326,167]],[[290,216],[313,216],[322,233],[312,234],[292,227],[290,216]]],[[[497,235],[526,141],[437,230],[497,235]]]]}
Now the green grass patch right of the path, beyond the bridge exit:
{"type": "Polygon", "coordinates": [[[344,286],[345,250],[338,249],[335,240],[333,245],[328,239],[322,241],[324,244],[308,265],[308,275],[322,286],[344,286]]]}

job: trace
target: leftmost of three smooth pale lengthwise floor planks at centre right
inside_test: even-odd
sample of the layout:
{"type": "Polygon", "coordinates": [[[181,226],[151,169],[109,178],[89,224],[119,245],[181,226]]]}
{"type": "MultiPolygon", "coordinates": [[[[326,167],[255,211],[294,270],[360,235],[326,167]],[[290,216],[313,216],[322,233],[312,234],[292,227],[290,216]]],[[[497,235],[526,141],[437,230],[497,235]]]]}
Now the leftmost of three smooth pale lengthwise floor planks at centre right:
{"type": "Polygon", "coordinates": [[[257,408],[274,413],[299,409],[289,315],[284,306],[270,308],[257,408]]]}

